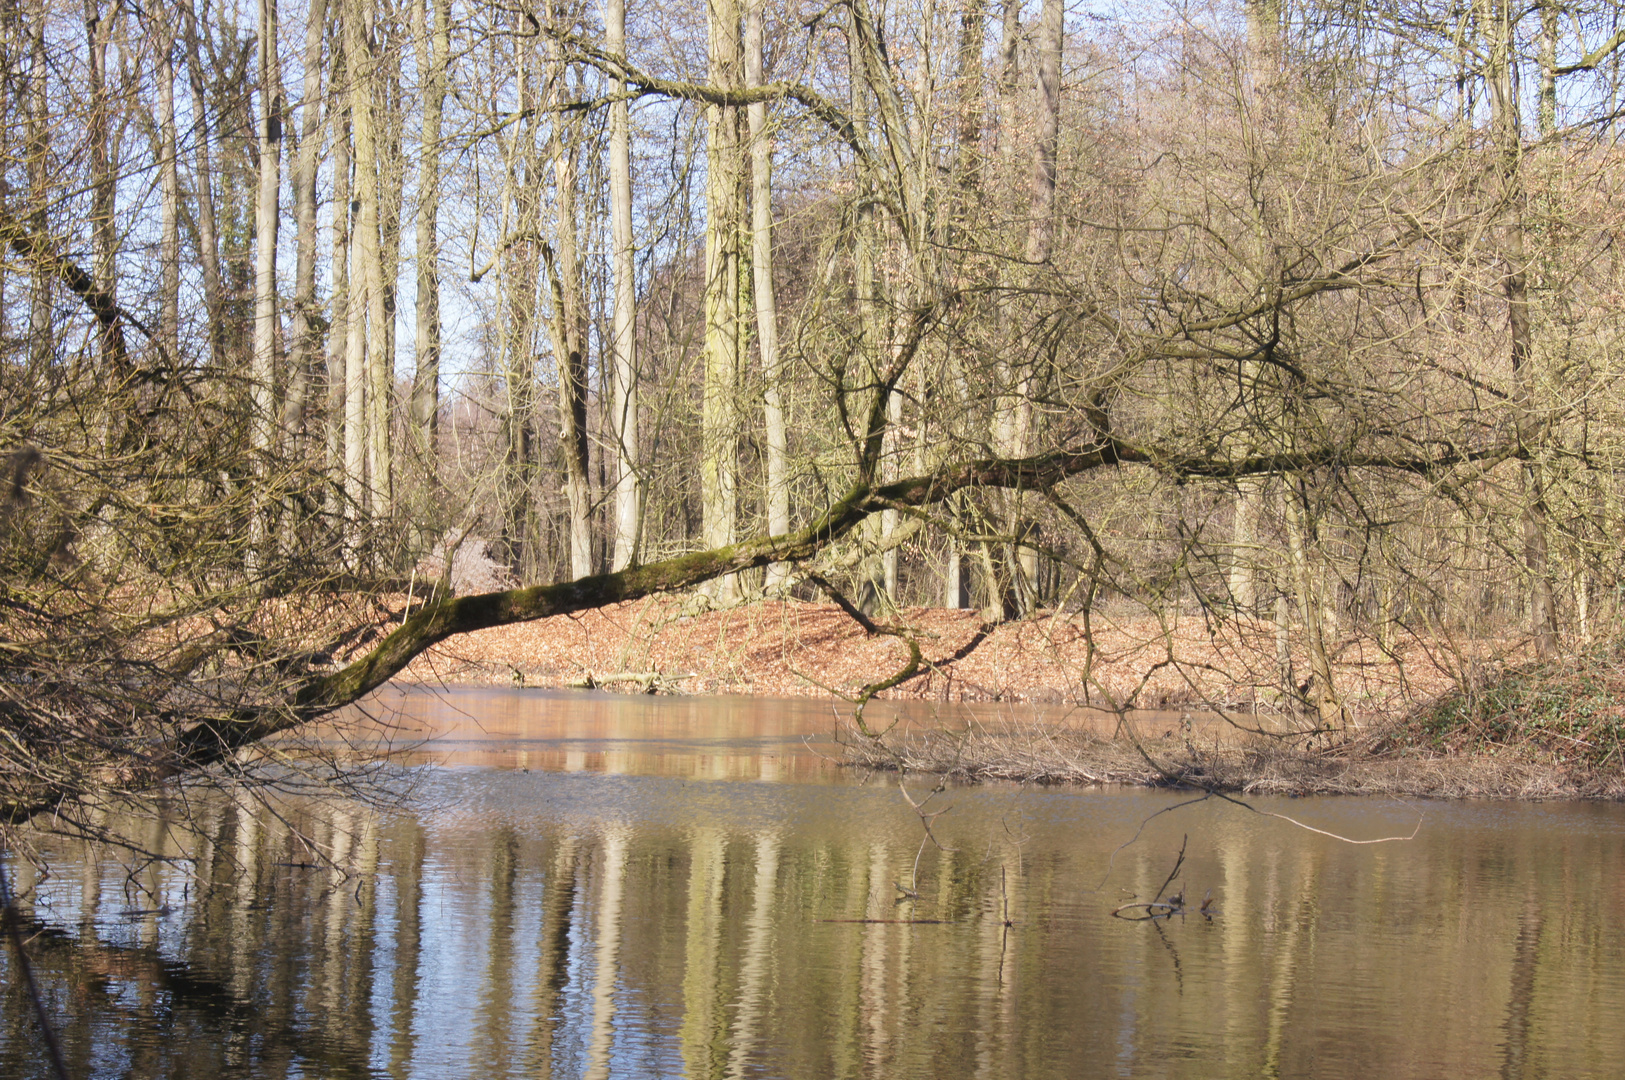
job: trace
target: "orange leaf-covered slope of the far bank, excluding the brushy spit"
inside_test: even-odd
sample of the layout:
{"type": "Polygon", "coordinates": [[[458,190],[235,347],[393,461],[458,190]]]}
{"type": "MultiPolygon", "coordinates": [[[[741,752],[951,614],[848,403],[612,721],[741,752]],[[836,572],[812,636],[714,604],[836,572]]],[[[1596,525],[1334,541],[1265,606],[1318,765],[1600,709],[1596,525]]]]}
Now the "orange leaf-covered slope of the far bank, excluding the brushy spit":
{"type": "MultiPolygon", "coordinates": [[[[1077,616],[1040,614],[990,627],[973,611],[916,607],[895,620],[913,629],[926,664],[884,698],[1279,708],[1271,622],[1097,612],[1086,635],[1077,616]]],[[[1502,648],[1485,642],[1476,654],[1502,648]]],[[[785,601],[684,614],[674,599],[647,599],[462,635],[429,650],[405,679],[611,689],[653,682],[686,693],[838,698],[907,659],[899,638],[866,635],[834,604],[785,601]]],[[[1384,653],[1350,638],[1336,650],[1334,679],[1355,718],[1367,721],[1446,692],[1454,684],[1451,667],[1462,661],[1472,656],[1433,642],[1410,640],[1384,653]]],[[[1308,671],[1306,658],[1294,663],[1308,671]]]]}

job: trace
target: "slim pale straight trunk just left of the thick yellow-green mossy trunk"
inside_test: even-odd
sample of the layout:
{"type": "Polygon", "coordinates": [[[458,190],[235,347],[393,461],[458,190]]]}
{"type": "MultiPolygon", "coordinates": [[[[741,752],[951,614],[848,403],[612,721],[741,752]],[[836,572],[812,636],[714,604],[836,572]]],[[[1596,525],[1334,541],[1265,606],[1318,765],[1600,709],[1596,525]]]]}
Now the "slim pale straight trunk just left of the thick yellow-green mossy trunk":
{"type": "MultiPolygon", "coordinates": [[[[626,0],[604,5],[604,47],[626,52],[626,0]]],[[[609,107],[609,244],[614,312],[609,320],[613,390],[609,434],[616,443],[614,557],[624,570],[644,538],[644,477],[639,460],[637,278],[632,247],[632,122],[627,102],[609,107]]],[[[772,466],[769,466],[770,469],[772,466]]]]}

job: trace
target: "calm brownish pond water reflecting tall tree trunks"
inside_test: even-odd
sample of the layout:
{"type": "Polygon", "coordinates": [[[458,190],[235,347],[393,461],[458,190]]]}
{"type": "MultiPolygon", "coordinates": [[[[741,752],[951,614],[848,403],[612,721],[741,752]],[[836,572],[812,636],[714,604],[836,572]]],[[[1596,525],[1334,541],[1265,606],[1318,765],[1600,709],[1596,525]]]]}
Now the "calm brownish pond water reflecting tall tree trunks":
{"type": "MultiPolygon", "coordinates": [[[[1622,1074],[1625,807],[1251,801],[1316,833],[985,784],[925,806],[938,849],[819,755],[829,703],[377,711],[440,734],[406,809],[203,802],[145,833],[190,861],[10,862],[73,1077],[1622,1074]],[[1181,845],[1168,892],[1217,914],[1112,918],[1181,845]]],[[[0,968],[0,1077],[49,1077],[0,968]]]]}

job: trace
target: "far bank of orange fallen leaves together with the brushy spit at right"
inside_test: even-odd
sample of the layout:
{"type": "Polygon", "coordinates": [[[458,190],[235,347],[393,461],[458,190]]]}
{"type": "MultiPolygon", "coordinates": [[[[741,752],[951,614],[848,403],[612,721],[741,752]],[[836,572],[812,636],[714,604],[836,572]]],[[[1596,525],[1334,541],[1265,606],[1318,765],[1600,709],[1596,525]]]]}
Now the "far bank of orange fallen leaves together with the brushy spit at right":
{"type": "MultiPolygon", "coordinates": [[[[904,642],[864,633],[834,604],[691,609],[645,599],[481,630],[434,646],[405,679],[850,700],[908,659],[904,642]]],[[[890,619],[926,664],[879,700],[1038,708],[915,724],[882,744],[853,734],[847,757],[860,765],[1240,793],[1625,799],[1625,658],[1614,648],[1540,666],[1511,640],[1341,640],[1332,679],[1352,723],[1311,737],[1313,724],[1282,708],[1271,622],[1095,612],[1086,632],[1079,616],[890,619]],[[1160,715],[1102,734],[1068,719],[1079,706],[1160,715]]],[[[1305,658],[1294,671],[1306,679],[1305,658]]]]}

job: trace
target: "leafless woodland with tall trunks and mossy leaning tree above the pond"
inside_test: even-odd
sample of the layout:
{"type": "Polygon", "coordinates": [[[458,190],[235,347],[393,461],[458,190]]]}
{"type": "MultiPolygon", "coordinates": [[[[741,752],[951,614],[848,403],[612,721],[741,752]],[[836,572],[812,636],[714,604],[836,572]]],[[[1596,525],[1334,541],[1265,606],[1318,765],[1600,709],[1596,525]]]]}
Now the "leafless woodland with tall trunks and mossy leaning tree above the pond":
{"type": "Polygon", "coordinates": [[[0,822],[653,593],[832,598],[890,680],[920,606],[1196,617],[1320,729],[1349,642],[1618,619],[1617,5],[0,31],[0,822]]]}

